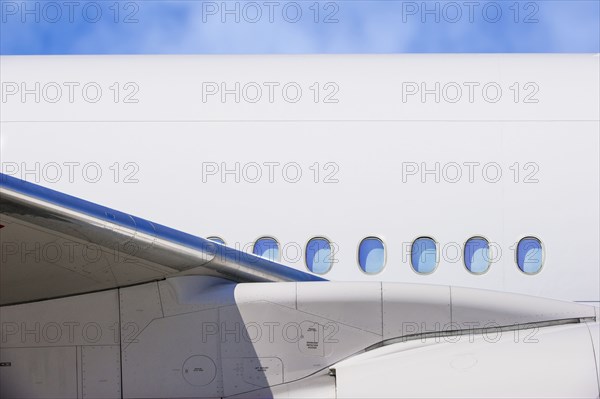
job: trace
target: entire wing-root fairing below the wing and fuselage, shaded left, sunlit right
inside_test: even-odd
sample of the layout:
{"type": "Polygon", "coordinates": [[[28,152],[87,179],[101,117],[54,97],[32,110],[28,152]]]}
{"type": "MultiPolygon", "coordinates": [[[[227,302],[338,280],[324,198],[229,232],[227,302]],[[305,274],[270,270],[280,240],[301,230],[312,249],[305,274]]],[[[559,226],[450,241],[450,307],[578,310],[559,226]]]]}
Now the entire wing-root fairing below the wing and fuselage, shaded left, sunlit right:
{"type": "MultiPolygon", "coordinates": [[[[179,276],[4,306],[0,394],[131,399],[597,395],[593,307],[480,291],[491,309],[485,313],[477,304],[469,308],[465,301],[450,301],[450,292],[458,288],[441,288],[179,276]],[[357,294],[367,308],[385,312],[356,318],[352,297],[357,294]],[[331,312],[335,306],[338,311],[331,312]],[[436,308],[437,321],[424,312],[436,308]],[[455,313],[469,323],[447,323],[455,313]],[[419,327],[398,328],[399,322],[419,327]],[[66,352],[54,351],[60,348],[66,352]],[[30,373],[46,361],[65,376],[62,385],[50,379],[52,373],[45,374],[48,379],[30,373]],[[498,377],[501,372],[512,384],[498,377]],[[432,375],[447,378],[422,386],[432,375]],[[38,378],[39,391],[30,389],[32,378],[38,378]],[[70,396],[73,379],[83,389],[70,396]]],[[[463,297],[476,300],[475,291],[469,294],[463,297]]]]}

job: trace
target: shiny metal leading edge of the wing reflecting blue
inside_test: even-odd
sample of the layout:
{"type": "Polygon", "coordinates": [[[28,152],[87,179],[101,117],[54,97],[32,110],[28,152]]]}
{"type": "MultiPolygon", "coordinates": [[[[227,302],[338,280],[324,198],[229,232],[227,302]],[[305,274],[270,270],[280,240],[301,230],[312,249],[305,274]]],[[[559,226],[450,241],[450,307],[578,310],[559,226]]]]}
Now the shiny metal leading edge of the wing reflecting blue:
{"type": "Polygon", "coordinates": [[[131,256],[236,282],[326,281],[271,260],[0,173],[0,213],[131,256]]]}

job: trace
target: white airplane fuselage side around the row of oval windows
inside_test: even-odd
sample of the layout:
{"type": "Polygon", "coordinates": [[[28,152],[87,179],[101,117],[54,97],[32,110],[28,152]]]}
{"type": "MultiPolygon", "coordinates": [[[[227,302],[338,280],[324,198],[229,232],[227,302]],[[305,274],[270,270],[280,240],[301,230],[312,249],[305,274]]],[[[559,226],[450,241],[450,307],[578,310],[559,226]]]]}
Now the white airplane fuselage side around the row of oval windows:
{"type": "Polygon", "coordinates": [[[3,173],[247,251],[273,237],[302,270],[324,237],[331,280],[600,301],[597,55],[38,60],[2,58],[3,173]],[[411,266],[423,236],[429,274],[411,266]],[[483,274],[471,237],[490,243],[483,274]]]}

